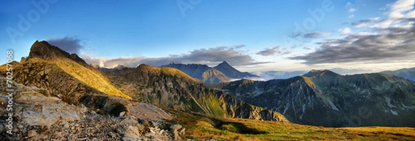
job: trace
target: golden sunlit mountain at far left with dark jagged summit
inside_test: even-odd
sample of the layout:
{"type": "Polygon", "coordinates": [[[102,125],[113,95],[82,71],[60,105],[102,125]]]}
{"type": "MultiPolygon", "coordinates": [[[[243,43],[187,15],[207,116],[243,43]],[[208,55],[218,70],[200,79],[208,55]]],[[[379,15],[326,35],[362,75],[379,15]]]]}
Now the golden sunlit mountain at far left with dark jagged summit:
{"type": "MultiPolygon", "coordinates": [[[[30,48],[29,57],[12,65],[15,82],[43,88],[69,104],[84,103],[99,107],[104,113],[118,115],[122,111],[122,104],[131,100],[131,97],[113,86],[106,76],[77,55],[69,55],[46,41],[36,41],[30,48]]],[[[0,66],[5,67],[6,64],[0,66]]],[[[3,71],[6,69],[1,69],[0,73],[6,74],[3,71]]]]}

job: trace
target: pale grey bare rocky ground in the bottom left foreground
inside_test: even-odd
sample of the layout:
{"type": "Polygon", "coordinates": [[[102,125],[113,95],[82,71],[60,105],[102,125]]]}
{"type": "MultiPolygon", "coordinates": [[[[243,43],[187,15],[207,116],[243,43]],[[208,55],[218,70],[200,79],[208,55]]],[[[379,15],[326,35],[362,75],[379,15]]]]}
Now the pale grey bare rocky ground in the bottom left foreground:
{"type": "MultiPolygon", "coordinates": [[[[0,77],[1,82],[6,78],[0,77]]],[[[111,117],[98,115],[82,104],[62,102],[49,97],[48,91],[35,86],[13,82],[13,124],[0,120],[0,140],[181,140],[185,129],[178,124],[162,120],[153,121],[131,116],[157,111],[151,106],[140,106],[140,111],[130,111],[129,116],[111,117]],[[178,128],[179,127],[179,128],[178,128]],[[6,131],[11,130],[13,135],[6,131]]],[[[7,85],[1,83],[0,105],[6,107],[7,85]]],[[[0,109],[0,118],[8,119],[8,111],[0,109]]],[[[163,114],[163,113],[162,113],[163,114]]]]}

